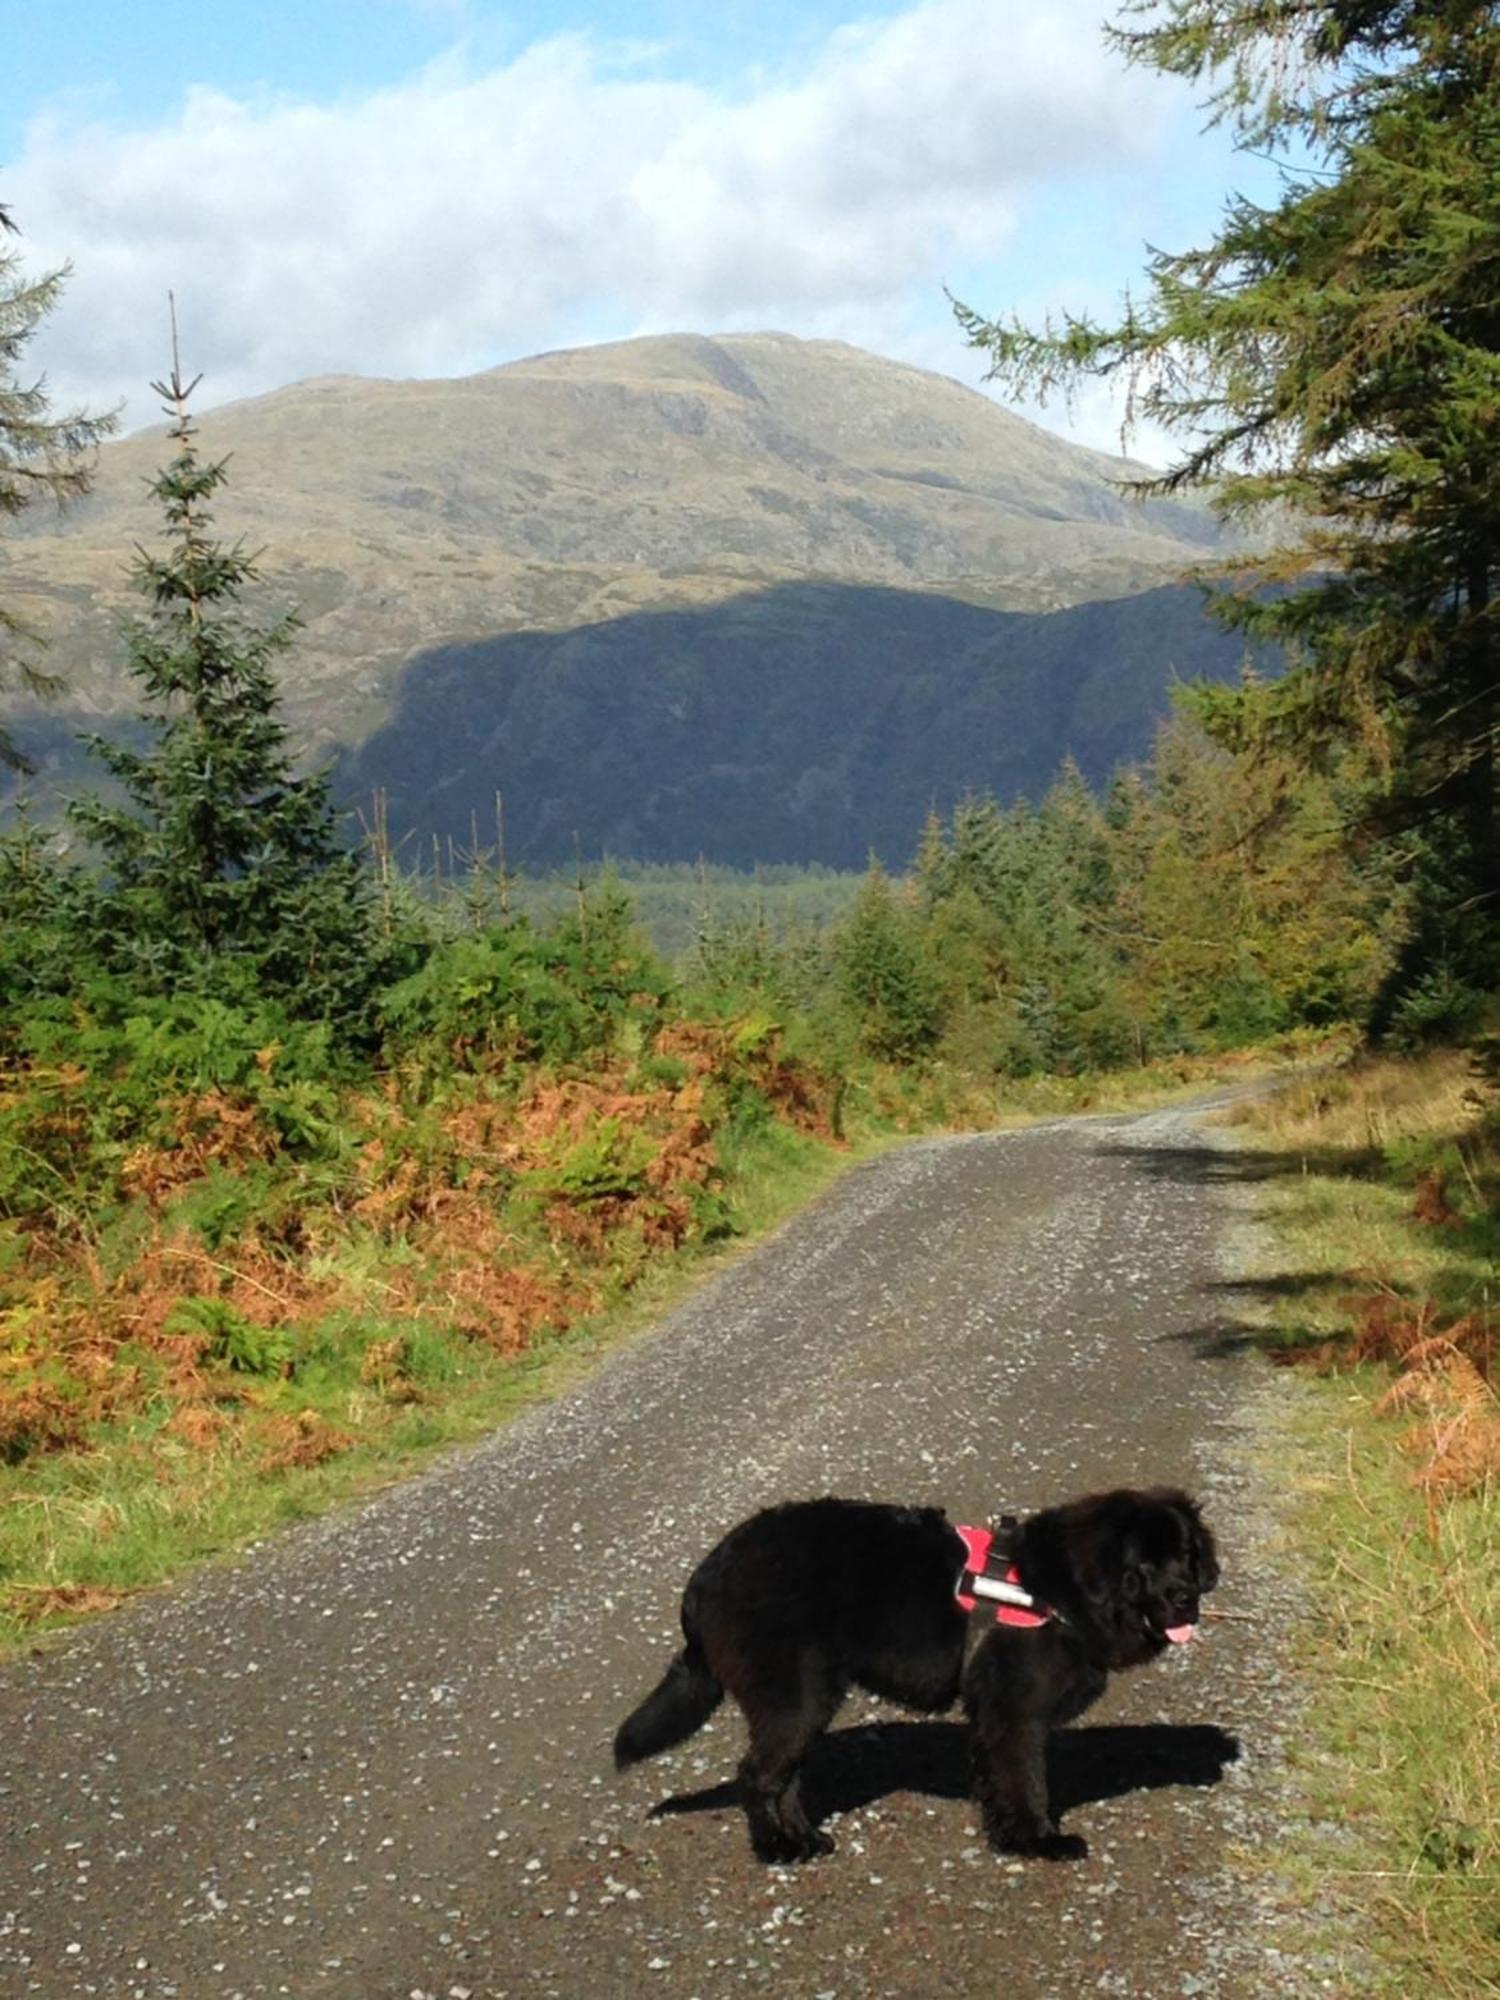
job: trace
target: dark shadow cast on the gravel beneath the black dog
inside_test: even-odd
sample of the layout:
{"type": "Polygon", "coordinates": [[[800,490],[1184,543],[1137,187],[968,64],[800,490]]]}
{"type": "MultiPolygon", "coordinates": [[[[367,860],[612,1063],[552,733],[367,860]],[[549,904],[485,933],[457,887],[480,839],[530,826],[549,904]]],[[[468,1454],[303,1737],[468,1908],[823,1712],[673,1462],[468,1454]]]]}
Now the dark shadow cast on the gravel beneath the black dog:
{"type": "MultiPolygon", "coordinates": [[[[1070,1812],[1126,1792],[1174,1784],[1218,1784],[1240,1744],[1214,1724],[1100,1724],[1058,1730],[1048,1744],[1052,1810],[1070,1812]]],[[[802,1772],[802,1800],[814,1824],[858,1812],[892,1792],[970,1798],[970,1734],[960,1722],[864,1722],[822,1736],[802,1772]]],[[[652,1818],[714,1812],[740,1802],[734,1780],[700,1792],[676,1792],[652,1806],[652,1818]]]]}

